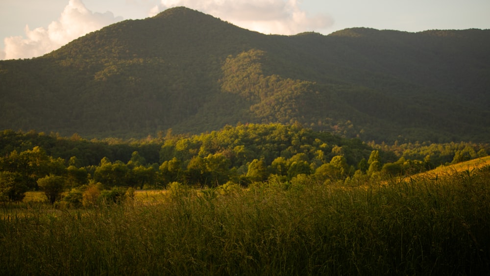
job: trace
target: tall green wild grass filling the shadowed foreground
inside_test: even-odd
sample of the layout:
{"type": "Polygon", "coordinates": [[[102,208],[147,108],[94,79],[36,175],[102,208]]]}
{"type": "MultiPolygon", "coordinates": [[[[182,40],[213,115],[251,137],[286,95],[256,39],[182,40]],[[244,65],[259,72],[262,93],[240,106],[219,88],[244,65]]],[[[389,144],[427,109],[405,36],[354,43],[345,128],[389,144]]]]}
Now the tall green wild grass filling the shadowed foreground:
{"type": "Polygon", "coordinates": [[[4,208],[0,274],[483,275],[489,179],[490,166],[359,187],[174,183],[158,201],[4,208]]]}

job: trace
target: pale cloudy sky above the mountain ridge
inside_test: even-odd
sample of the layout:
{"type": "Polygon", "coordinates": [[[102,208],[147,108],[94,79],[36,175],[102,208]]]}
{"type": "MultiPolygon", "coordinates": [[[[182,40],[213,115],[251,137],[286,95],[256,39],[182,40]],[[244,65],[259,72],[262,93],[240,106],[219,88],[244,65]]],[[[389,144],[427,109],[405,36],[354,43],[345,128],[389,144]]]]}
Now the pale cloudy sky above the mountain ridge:
{"type": "Polygon", "coordinates": [[[174,6],[266,34],[490,28],[490,0],[0,0],[0,59],[40,56],[103,26],[174,6]]]}

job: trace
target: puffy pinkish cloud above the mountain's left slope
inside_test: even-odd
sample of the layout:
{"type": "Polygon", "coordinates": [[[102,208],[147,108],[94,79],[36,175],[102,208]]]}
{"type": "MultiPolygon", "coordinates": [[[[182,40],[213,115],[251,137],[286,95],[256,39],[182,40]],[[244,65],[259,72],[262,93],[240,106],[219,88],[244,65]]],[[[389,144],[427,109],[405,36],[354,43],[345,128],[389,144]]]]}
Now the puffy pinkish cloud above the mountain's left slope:
{"type": "Polygon", "coordinates": [[[60,18],[51,22],[48,28],[38,27],[31,30],[26,25],[25,37],[6,37],[5,49],[0,50],[0,59],[40,56],[91,31],[121,20],[121,17],[114,17],[111,12],[92,12],[81,0],[70,0],[60,18]]]}

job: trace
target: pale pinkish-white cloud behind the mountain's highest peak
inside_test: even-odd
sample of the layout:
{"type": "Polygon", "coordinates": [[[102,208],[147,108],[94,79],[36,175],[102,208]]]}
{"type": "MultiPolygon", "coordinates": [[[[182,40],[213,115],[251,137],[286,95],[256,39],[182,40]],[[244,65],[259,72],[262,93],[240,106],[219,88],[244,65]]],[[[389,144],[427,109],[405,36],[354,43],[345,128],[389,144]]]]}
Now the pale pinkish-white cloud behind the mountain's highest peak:
{"type": "Polygon", "coordinates": [[[309,16],[297,0],[162,0],[150,16],[159,10],[186,6],[211,14],[246,29],[265,34],[296,34],[333,25],[325,14],[309,16]]]}

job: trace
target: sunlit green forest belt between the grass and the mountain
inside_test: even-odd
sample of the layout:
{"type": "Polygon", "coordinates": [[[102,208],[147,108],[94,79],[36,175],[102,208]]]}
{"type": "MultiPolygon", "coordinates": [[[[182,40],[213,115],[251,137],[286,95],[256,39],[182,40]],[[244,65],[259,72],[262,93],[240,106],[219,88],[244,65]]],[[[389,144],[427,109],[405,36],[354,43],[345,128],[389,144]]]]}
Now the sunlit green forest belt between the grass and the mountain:
{"type": "Polygon", "coordinates": [[[411,175],[487,156],[488,144],[386,144],[342,138],[299,124],[240,124],[196,135],[142,140],[0,133],[0,200],[42,190],[54,203],[80,206],[90,194],[117,201],[131,189],[248,186],[275,179],[359,183],[411,175]]]}

